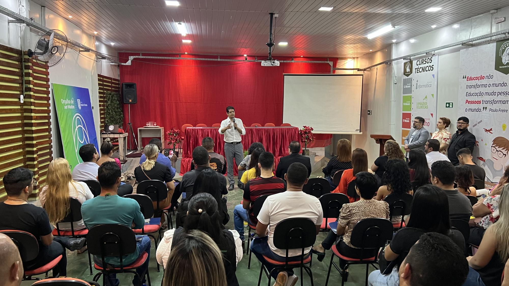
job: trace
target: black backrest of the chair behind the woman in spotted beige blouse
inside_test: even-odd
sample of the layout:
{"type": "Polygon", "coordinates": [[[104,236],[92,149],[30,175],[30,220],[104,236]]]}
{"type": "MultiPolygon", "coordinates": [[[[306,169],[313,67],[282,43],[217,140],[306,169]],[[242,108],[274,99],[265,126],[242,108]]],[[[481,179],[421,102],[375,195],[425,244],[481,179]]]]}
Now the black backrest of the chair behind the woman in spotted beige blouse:
{"type": "Polygon", "coordinates": [[[358,248],[380,248],[391,239],[392,222],[385,218],[371,217],[357,221],[350,243],[358,248]]]}

